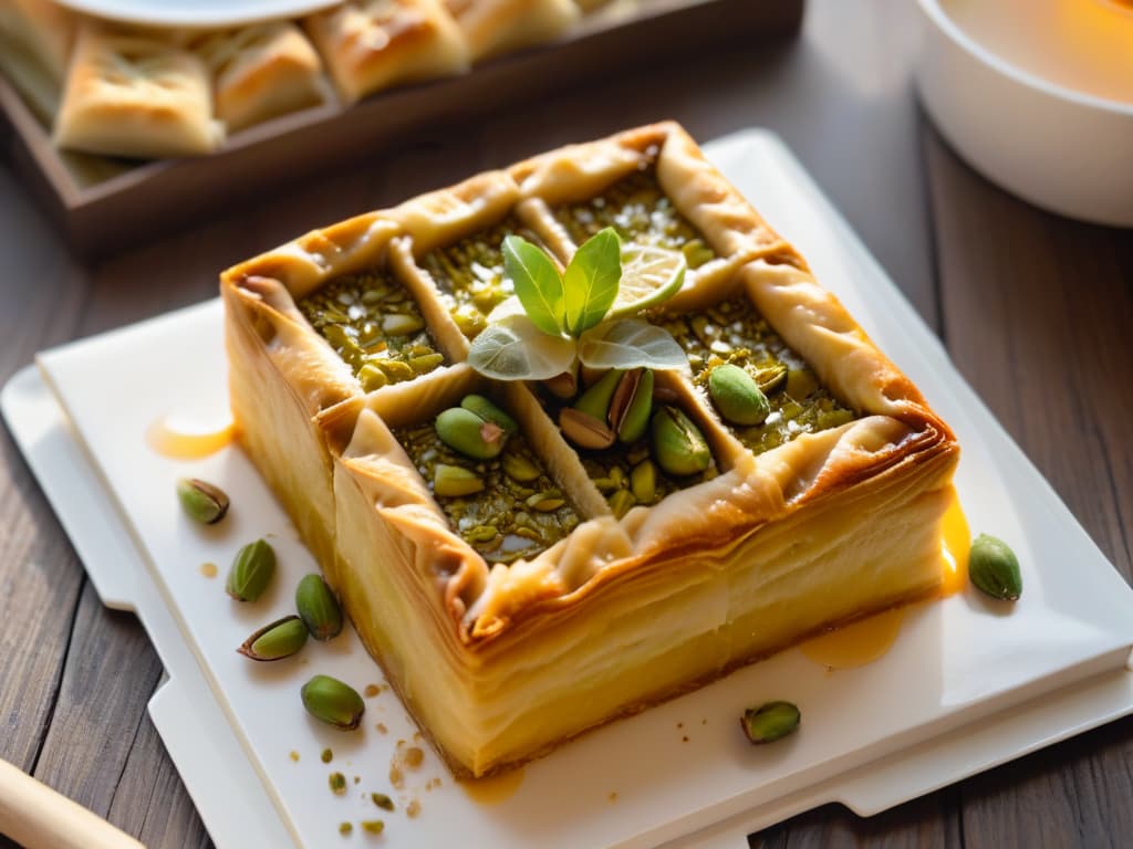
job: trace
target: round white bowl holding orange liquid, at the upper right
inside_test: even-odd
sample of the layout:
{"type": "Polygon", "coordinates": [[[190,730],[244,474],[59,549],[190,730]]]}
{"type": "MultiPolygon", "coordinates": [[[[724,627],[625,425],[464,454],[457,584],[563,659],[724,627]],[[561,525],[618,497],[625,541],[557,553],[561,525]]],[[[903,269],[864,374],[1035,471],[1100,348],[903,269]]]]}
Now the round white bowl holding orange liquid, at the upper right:
{"type": "Polygon", "coordinates": [[[918,88],[960,155],[1037,206],[1133,226],[1133,104],[1047,83],[977,43],[940,0],[919,6],[918,88]]]}

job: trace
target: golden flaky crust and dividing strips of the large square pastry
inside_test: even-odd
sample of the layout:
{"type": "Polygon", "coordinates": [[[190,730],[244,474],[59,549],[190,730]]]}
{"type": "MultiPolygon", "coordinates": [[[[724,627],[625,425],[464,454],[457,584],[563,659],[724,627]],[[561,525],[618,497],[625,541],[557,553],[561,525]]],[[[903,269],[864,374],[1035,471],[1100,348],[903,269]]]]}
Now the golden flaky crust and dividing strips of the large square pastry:
{"type": "Polygon", "coordinates": [[[565,147],[314,231],[229,269],[222,290],[244,446],[458,773],[521,763],[939,586],[954,437],[675,125],[565,147]],[[658,377],[701,426],[719,473],[615,518],[536,393],[465,365],[458,299],[425,267],[431,251],[501,222],[565,264],[577,245],[556,211],[639,171],[656,175],[710,249],[663,310],[749,299],[857,418],[755,454],[687,375],[658,377]],[[370,393],[297,307],[366,271],[408,290],[444,354],[428,374],[370,393]],[[485,561],[394,437],[470,392],[511,412],[582,520],[529,559],[485,561]]]}

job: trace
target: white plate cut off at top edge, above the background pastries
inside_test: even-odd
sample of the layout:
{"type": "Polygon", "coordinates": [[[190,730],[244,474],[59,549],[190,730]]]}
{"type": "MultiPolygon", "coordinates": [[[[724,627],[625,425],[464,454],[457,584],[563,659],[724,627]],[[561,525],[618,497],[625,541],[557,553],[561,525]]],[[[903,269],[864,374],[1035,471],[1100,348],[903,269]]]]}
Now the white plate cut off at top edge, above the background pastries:
{"type": "Polygon", "coordinates": [[[57,0],[76,11],[126,24],[202,27],[293,18],[326,9],[341,0],[57,0]]]}

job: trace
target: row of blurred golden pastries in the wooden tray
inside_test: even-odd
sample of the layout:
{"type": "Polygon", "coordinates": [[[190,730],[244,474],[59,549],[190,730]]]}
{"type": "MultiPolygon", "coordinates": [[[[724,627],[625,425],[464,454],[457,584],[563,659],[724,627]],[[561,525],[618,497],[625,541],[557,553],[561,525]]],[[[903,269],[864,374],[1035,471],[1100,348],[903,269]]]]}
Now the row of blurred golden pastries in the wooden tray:
{"type": "Polygon", "coordinates": [[[301,20],[193,32],[96,20],[50,0],[0,0],[0,71],[60,148],[197,156],[281,114],[463,74],[552,41],[598,5],[350,0],[301,20]]]}

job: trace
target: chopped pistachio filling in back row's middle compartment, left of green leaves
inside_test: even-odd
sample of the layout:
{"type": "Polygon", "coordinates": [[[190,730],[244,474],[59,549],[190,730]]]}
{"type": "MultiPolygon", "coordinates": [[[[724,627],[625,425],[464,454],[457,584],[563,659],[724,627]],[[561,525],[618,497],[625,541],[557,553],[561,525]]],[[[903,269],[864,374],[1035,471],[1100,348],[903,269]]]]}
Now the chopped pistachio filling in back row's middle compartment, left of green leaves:
{"type": "Polygon", "coordinates": [[[483,331],[487,315],[516,293],[503,273],[502,245],[509,235],[538,241],[535,233],[511,216],[421,258],[421,267],[441,291],[452,295],[452,318],[468,338],[483,331]]]}

